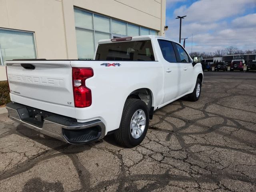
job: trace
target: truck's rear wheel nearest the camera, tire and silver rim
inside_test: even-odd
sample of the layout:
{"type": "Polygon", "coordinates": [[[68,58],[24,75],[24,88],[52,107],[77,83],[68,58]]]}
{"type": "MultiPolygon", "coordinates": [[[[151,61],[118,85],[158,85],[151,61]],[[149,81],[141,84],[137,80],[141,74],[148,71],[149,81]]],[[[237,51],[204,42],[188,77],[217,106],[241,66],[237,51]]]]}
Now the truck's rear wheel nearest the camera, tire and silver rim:
{"type": "Polygon", "coordinates": [[[146,103],[139,99],[127,99],[115,138],[121,146],[132,148],[139,145],[148,131],[149,115],[146,103]]]}

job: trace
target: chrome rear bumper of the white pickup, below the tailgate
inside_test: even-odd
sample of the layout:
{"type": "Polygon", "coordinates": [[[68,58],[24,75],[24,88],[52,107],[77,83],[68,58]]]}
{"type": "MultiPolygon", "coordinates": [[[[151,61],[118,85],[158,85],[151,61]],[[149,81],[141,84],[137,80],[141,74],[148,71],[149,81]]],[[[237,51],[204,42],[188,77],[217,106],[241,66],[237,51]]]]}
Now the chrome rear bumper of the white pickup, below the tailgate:
{"type": "Polygon", "coordinates": [[[77,122],[73,118],[52,114],[18,103],[6,104],[9,118],[24,126],[71,144],[84,144],[99,140],[105,136],[105,125],[101,120],[77,122]],[[42,122],[37,123],[31,109],[40,114],[47,114],[42,122]]]}

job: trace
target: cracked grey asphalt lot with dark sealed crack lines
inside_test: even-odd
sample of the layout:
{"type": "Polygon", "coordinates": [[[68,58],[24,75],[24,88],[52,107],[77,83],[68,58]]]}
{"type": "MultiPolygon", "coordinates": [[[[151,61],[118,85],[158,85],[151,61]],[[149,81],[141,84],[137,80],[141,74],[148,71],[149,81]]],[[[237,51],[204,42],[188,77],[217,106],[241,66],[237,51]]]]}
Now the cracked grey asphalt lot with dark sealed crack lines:
{"type": "Polygon", "coordinates": [[[0,114],[0,191],[256,191],[256,73],[204,72],[201,98],[154,114],[132,149],[69,145],[0,114]]]}

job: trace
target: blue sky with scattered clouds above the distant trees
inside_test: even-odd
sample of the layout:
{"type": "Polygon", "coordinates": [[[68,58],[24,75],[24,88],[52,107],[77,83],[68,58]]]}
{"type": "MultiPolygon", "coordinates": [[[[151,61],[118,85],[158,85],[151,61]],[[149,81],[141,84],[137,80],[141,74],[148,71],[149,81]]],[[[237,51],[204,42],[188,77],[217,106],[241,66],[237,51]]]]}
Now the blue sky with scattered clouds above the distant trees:
{"type": "Polygon", "coordinates": [[[188,52],[256,49],[256,0],[166,0],[166,37],[179,41],[175,18],[184,15],[181,38],[188,38],[188,52]]]}

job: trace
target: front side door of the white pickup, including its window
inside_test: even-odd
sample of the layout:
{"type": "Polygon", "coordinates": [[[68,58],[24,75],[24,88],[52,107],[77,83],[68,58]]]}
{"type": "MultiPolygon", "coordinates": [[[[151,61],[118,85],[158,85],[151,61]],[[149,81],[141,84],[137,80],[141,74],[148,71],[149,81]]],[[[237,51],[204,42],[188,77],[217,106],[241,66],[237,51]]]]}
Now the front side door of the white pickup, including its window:
{"type": "Polygon", "coordinates": [[[179,96],[186,94],[191,90],[193,84],[193,65],[192,60],[188,56],[187,52],[184,50],[182,46],[177,43],[174,44],[174,49],[176,51],[179,70],[180,70],[180,88],[179,88],[179,96]]]}

